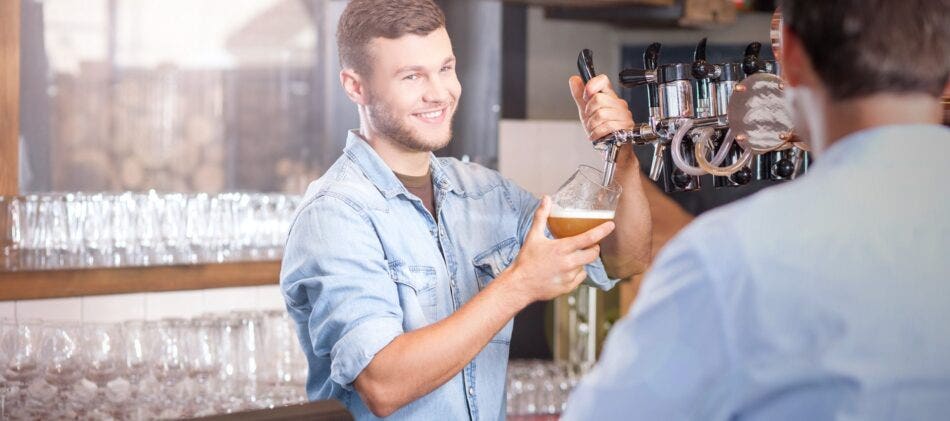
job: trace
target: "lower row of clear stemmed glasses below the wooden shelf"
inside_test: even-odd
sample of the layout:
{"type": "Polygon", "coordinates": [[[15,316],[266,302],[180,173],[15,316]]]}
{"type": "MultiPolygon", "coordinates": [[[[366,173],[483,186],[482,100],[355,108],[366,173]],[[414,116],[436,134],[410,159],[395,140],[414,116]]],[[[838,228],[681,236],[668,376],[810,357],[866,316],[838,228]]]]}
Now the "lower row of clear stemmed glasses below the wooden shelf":
{"type": "Polygon", "coordinates": [[[0,419],[168,419],[306,401],[285,311],[0,322],[0,419]]]}

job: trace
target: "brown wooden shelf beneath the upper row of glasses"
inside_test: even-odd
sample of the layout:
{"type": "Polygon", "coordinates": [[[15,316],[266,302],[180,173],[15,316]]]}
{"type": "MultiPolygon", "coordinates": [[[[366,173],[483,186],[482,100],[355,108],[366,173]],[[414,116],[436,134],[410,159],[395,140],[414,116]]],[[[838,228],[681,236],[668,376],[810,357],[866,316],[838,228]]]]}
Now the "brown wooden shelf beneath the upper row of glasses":
{"type": "Polygon", "coordinates": [[[279,261],[0,272],[0,301],[276,285],[279,261]]]}

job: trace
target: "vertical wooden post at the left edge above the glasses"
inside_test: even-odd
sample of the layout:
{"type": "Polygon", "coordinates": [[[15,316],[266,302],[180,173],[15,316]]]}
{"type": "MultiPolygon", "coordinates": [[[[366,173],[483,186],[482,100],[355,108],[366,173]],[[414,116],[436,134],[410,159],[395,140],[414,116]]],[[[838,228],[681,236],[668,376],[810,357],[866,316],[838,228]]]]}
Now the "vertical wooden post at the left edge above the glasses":
{"type": "Polygon", "coordinates": [[[0,195],[17,194],[20,134],[20,1],[0,1],[0,195]]]}

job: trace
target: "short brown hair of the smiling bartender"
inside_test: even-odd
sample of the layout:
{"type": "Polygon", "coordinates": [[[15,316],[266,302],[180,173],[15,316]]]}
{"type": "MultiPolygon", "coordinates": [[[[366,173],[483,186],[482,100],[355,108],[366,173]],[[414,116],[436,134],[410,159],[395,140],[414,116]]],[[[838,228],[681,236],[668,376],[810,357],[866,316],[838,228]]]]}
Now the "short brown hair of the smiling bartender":
{"type": "Polygon", "coordinates": [[[340,65],[369,70],[367,45],[374,38],[428,35],[445,26],[445,14],[432,0],[352,0],[336,31],[340,65]]]}

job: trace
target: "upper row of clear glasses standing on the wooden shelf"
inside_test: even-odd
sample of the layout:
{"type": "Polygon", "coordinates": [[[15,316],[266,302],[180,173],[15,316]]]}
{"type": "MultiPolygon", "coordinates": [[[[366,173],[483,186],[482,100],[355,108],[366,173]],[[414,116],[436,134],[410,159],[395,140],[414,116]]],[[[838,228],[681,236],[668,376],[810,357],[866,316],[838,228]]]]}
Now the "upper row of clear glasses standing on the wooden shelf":
{"type": "Polygon", "coordinates": [[[0,196],[0,270],[279,259],[300,196],[0,196]]]}

